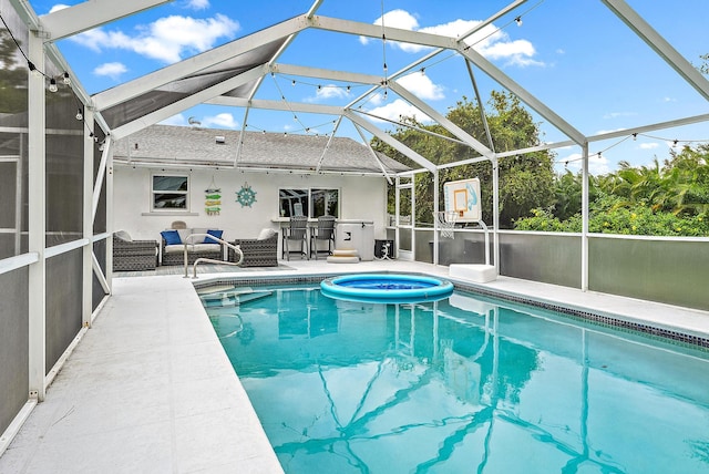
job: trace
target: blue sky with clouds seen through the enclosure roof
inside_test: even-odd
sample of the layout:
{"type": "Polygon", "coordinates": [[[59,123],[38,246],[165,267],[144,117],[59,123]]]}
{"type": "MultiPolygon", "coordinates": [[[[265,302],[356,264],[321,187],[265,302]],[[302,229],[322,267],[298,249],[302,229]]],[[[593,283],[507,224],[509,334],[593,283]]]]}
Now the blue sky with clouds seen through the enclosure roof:
{"type": "MultiPolygon", "coordinates": [[[[41,16],[78,2],[30,3],[41,16]]],[[[59,48],[84,89],[95,93],[302,14],[311,3],[310,0],[177,0],[62,40],[59,48]]],[[[317,14],[381,24],[383,13],[388,27],[456,35],[508,3],[502,0],[325,0],[317,14]]],[[[671,2],[671,8],[661,1],[629,0],[628,3],[693,64],[700,64],[699,56],[709,53],[709,30],[702,24],[709,12],[706,0],[677,0],[671,2]]],[[[531,0],[471,41],[477,52],[586,135],[709,112],[709,103],[599,0],[531,0]],[[516,17],[522,19],[521,25],[514,21],[516,17]]],[[[381,39],[308,30],[295,39],[278,62],[383,76],[429,51],[391,41],[382,45],[381,39]]],[[[474,69],[474,75],[483,101],[492,90],[502,90],[482,71],[474,69]]],[[[474,97],[463,60],[449,52],[427,61],[400,82],[441,113],[462,96],[474,97]]],[[[367,87],[357,84],[317,83],[311,79],[277,74],[265,79],[256,97],[279,100],[282,96],[287,102],[343,105],[364,91],[367,87]]],[[[429,122],[425,115],[392,93],[371,94],[358,105],[391,120],[415,115],[429,122]]],[[[240,128],[244,111],[202,105],[166,122],[186,125],[189,117],[203,126],[240,128]]],[[[566,140],[542,117],[535,117],[542,123],[544,141],[566,140]]],[[[247,130],[328,134],[335,118],[306,114],[295,118],[290,113],[251,111],[247,130]]],[[[386,122],[379,125],[390,126],[386,122]]],[[[635,165],[650,164],[654,157],[665,159],[675,141],[679,145],[706,143],[708,128],[705,123],[641,134],[636,140],[620,137],[594,143],[590,169],[594,173],[614,171],[620,159],[635,165]],[[597,155],[598,152],[602,154],[597,155]]],[[[343,124],[337,133],[361,140],[351,125],[343,124]]],[[[557,168],[577,169],[579,153],[578,147],[556,150],[557,168]]]]}

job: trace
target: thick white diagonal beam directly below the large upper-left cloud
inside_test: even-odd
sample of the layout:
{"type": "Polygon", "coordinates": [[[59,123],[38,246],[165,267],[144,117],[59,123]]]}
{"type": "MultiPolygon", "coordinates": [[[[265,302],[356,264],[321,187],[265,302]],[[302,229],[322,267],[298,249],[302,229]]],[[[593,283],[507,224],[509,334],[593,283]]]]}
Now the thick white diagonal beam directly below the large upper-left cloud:
{"type": "Polygon", "coordinates": [[[255,48],[286,38],[304,30],[306,27],[307,23],[304,17],[297,17],[271,28],[257,31],[248,37],[163,68],[160,71],[145,74],[122,85],[100,92],[93,96],[94,106],[96,111],[101,112],[146,92],[160,90],[167,83],[178,81],[185,76],[212,68],[215,64],[246,53],[255,48]]]}

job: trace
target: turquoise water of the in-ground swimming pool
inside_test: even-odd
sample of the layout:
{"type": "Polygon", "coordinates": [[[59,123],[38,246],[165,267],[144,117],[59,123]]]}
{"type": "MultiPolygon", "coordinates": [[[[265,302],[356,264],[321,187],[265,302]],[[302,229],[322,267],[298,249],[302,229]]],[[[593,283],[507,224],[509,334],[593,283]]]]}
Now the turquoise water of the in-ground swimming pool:
{"type": "Polygon", "coordinates": [[[705,352],[458,291],[254,289],[205,301],[286,473],[709,472],[705,352]]]}

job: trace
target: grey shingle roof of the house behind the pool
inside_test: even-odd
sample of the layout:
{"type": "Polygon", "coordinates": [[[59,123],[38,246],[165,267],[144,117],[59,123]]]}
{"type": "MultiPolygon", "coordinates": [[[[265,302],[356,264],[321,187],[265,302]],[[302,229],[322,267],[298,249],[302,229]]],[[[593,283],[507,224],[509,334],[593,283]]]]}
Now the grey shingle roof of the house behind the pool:
{"type": "MultiPolygon", "coordinates": [[[[154,163],[161,166],[227,166],[237,158],[240,136],[242,132],[234,130],[152,125],[116,141],[113,158],[120,163],[154,163]]],[[[336,136],[327,147],[328,140],[328,136],[245,132],[236,167],[312,172],[322,157],[322,172],[382,172],[366,145],[336,136]]],[[[388,173],[410,169],[381,153],[377,156],[388,173]]]]}

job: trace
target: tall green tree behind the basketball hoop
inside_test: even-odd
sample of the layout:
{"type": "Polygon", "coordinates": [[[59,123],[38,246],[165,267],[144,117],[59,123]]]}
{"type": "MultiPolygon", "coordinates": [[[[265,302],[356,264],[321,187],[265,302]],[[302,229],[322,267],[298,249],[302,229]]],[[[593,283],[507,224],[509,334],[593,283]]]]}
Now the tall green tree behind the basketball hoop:
{"type": "MultiPolygon", "coordinates": [[[[538,124],[533,121],[531,113],[521,101],[510,93],[495,92],[491,94],[485,118],[492,136],[492,146],[497,153],[533,147],[540,144],[538,124]]],[[[482,120],[481,107],[476,102],[466,97],[459,101],[446,113],[446,118],[473,136],[479,142],[490,146],[487,133],[482,120]]],[[[408,147],[425,157],[435,165],[445,165],[480,157],[480,153],[466,144],[460,143],[450,132],[440,125],[423,125],[413,118],[403,118],[407,126],[399,126],[392,136],[408,147]],[[429,133],[430,132],[430,133],[429,133]],[[455,138],[441,138],[433,134],[455,138]]],[[[409,159],[394,148],[374,138],[372,147],[399,159],[414,169],[419,164],[409,159]]],[[[527,216],[535,207],[545,207],[554,200],[554,171],[551,153],[534,152],[500,161],[500,221],[501,227],[511,228],[515,219],[527,216]]],[[[461,166],[443,168],[440,172],[440,209],[443,209],[443,184],[450,181],[479,177],[482,185],[483,220],[492,223],[493,167],[490,161],[471,163],[461,166]]],[[[417,196],[417,224],[433,221],[433,175],[421,173],[414,183],[417,196]]],[[[389,210],[393,213],[393,189],[389,196],[389,210]]]]}

